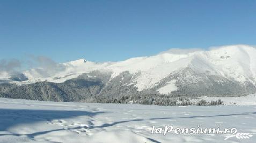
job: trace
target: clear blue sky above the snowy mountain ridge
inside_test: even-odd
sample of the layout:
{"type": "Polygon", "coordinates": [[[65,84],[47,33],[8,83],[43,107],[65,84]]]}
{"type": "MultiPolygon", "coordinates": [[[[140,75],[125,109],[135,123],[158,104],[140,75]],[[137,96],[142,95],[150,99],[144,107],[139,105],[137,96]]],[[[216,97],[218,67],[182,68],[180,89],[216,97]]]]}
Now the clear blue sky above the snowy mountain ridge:
{"type": "Polygon", "coordinates": [[[120,61],[170,48],[256,45],[256,1],[0,0],[0,59],[120,61]]]}

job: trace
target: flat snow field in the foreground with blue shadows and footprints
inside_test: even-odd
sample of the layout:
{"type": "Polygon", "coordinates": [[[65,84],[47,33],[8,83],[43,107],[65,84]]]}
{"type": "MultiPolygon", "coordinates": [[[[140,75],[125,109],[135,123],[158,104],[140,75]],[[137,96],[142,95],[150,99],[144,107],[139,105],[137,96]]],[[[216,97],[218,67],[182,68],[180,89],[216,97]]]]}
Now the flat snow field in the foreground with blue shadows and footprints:
{"type": "Polygon", "coordinates": [[[0,98],[0,142],[256,142],[256,106],[147,106],[0,98]],[[236,128],[229,134],[151,134],[164,128],[236,128]]]}

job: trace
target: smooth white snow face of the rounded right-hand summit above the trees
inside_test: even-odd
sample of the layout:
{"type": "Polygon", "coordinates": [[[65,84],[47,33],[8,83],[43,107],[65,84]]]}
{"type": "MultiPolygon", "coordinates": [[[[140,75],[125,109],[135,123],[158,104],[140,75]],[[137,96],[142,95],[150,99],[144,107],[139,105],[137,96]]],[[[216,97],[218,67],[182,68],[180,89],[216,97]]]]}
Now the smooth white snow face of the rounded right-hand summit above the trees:
{"type": "Polygon", "coordinates": [[[219,47],[196,53],[191,67],[212,74],[231,77],[237,81],[252,81],[255,84],[256,49],[246,45],[219,47]],[[201,63],[200,63],[201,62],[201,63]]]}

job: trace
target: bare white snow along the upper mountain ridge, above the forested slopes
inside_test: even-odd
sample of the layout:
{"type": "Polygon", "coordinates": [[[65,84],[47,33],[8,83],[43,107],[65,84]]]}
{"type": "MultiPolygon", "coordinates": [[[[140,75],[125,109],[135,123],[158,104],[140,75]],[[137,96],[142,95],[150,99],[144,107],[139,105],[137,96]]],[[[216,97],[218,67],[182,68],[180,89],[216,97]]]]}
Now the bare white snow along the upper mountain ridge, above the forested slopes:
{"type": "MultiPolygon", "coordinates": [[[[199,73],[221,75],[239,82],[249,81],[256,85],[256,48],[249,45],[215,47],[209,51],[192,51],[184,54],[163,52],[151,57],[131,58],[120,62],[91,62],[84,59],[60,63],[64,68],[43,75],[36,69],[24,71],[29,78],[22,83],[38,81],[64,82],[93,70],[111,71],[112,78],[123,71],[140,72],[134,79],[139,91],[150,89],[173,71],[192,68],[199,73]]],[[[0,74],[1,78],[1,74],[0,74]]]]}

